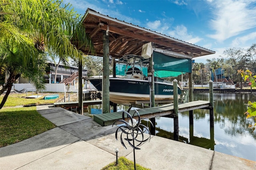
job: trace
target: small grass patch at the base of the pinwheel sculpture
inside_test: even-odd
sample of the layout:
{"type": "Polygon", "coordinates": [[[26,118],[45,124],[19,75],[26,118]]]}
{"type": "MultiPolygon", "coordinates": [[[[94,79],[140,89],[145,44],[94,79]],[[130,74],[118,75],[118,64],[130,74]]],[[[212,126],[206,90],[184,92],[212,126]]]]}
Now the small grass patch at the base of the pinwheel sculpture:
{"type": "MultiPolygon", "coordinates": [[[[125,157],[121,156],[118,158],[118,164],[116,165],[116,161],[108,164],[101,170],[133,170],[134,169],[134,162],[126,159],[125,157]]],[[[149,168],[144,168],[139,164],[136,164],[136,170],[150,170],[149,168]]]]}

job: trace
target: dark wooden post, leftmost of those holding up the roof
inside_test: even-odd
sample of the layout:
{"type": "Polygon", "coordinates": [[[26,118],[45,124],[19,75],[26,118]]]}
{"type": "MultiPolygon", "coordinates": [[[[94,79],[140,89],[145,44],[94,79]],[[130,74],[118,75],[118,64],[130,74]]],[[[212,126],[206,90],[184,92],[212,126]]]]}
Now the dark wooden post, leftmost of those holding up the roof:
{"type": "Polygon", "coordinates": [[[83,107],[83,85],[82,85],[82,56],[81,59],[78,59],[78,113],[84,115],[83,107]]]}

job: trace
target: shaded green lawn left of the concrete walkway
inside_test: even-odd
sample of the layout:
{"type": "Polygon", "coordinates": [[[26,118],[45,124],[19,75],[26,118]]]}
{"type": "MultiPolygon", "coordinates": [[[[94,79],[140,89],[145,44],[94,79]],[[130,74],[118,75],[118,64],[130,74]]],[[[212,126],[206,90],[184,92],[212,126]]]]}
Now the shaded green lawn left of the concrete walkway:
{"type": "Polygon", "coordinates": [[[0,147],[31,138],[56,127],[42,117],[36,107],[0,110],[0,147]]]}

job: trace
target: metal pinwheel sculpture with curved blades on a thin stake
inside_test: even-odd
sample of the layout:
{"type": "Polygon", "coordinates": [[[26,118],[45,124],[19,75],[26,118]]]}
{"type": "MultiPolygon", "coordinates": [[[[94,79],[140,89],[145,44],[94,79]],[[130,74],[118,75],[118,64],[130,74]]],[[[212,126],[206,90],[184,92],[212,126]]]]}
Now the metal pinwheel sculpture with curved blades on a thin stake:
{"type": "Polygon", "coordinates": [[[142,144],[142,142],[146,142],[147,140],[150,140],[150,131],[148,130],[148,122],[150,122],[153,127],[154,127],[154,125],[152,124],[152,122],[149,119],[140,118],[140,114],[138,113],[137,110],[134,111],[132,116],[130,115],[129,111],[130,111],[130,109],[128,110],[128,112],[123,111],[122,120],[120,119],[120,120],[115,121],[113,123],[112,127],[115,125],[116,122],[124,123],[124,125],[121,125],[120,127],[118,127],[116,129],[116,134],[115,134],[116,140],[117,140],[117,132],[120,129],[122,131],[122,133],[120,135],[120,140],[121,140],[121,143],[124,146],[124,148],[126,148],[126,146],[124,144],[124,140],[123,140],[123,136],[122,136],[123,134],[126,134],[126,138],[124,138],[124,139],[127,140],[127,142],[130,144],[130,146],[132,146],[132,148],[133,148],[134,170],[136,170],[135,149],[140,149],[137,146],[140,146],[142,144]],[[124,116],[125,114],[127,115],[127,119],[129,120],[128,122],[125,121],[125,116],[124,116]],[[134,116],[138,116],[138,121],[136,121],[136,119],[133,118],[134,116]],[[147,126],[142,125],[141,120],[146,120],[147,126]],[[148,132],[149,137],[144,139],[144,132],[146,132],[146,131],[148,132]],[[140,137],[140,139],[138,139],[138,137],[140,137]],[[139,144],[135,146],[134,140],[139,142],[139,144]],[[133,141],[133,142],[131,143],[131,141],[133,141]]]}

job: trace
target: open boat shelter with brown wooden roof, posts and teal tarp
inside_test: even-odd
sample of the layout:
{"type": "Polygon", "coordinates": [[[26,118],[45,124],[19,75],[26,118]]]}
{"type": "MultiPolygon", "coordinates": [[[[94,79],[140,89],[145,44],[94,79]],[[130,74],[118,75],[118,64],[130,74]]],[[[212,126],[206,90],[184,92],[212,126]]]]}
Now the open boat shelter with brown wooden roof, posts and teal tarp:
{"type": "MultiPolygon", "coordinates": [[[[161,71],[169,71],[169,73],[174,73],[175,76],[182,73],[188,73],[189,102],[192,102],[193,58],[215,53],[215,51],[210,49],[184,42],[182,40],[133,25],[132,23],[127,23],[125,21],[118,20],[117,18],[112,18],[108,15],[100,14],[99,12],[96,12],[90,8],[86,10],[81,22],[86,29],[86,33],[90,36],[92,43],[94,44],[95,53],[89,51],[86,45],[80,45],[79,42],[76,42],[75,38],[73,39],[73,43],[86,55],[103,57],[102,113],[106,114],[110,113],[110,56],[115,61],[115,58],[120,58],[129,54],[142,55],[143,45],[151,43],[152,53],[149,54],[151,55],[151,58],[148,76],[152,76],[152,78],[154,78],[154,73],[160,73],[161,71]],[[155,62],[156,60],[153,59],[153,55],[154,59],[157,59],[158,62],[155,62]]],[[[146,53],[148,53],[148,51],[146,51],[146,53]]],[[[113,76],[116,75],[115,68],[116,65],[114,63],[113,76]]],[[[154,83],[152,84],[153,88],[151,89],[154,89],[154,83]]],[[[152,101],[150,106],[154,107],[154,93],[151,93],[151,98],[152,101]]],[[[79,107],[82,108],[82,97],[79,97],[79,107]]],[[[174,111],[176,114],[174,117],[175,122],[178,120],[178,109],[174,109],[174,111]]],[[[213,109],[210,109],[210,113],[213,119],[213,109]]],[[[193,123],[193,109],[190,110],[190,124],[191,123],[193,123]]],[[[176,131],[178,133],[177,125],[176,131]]]]}

